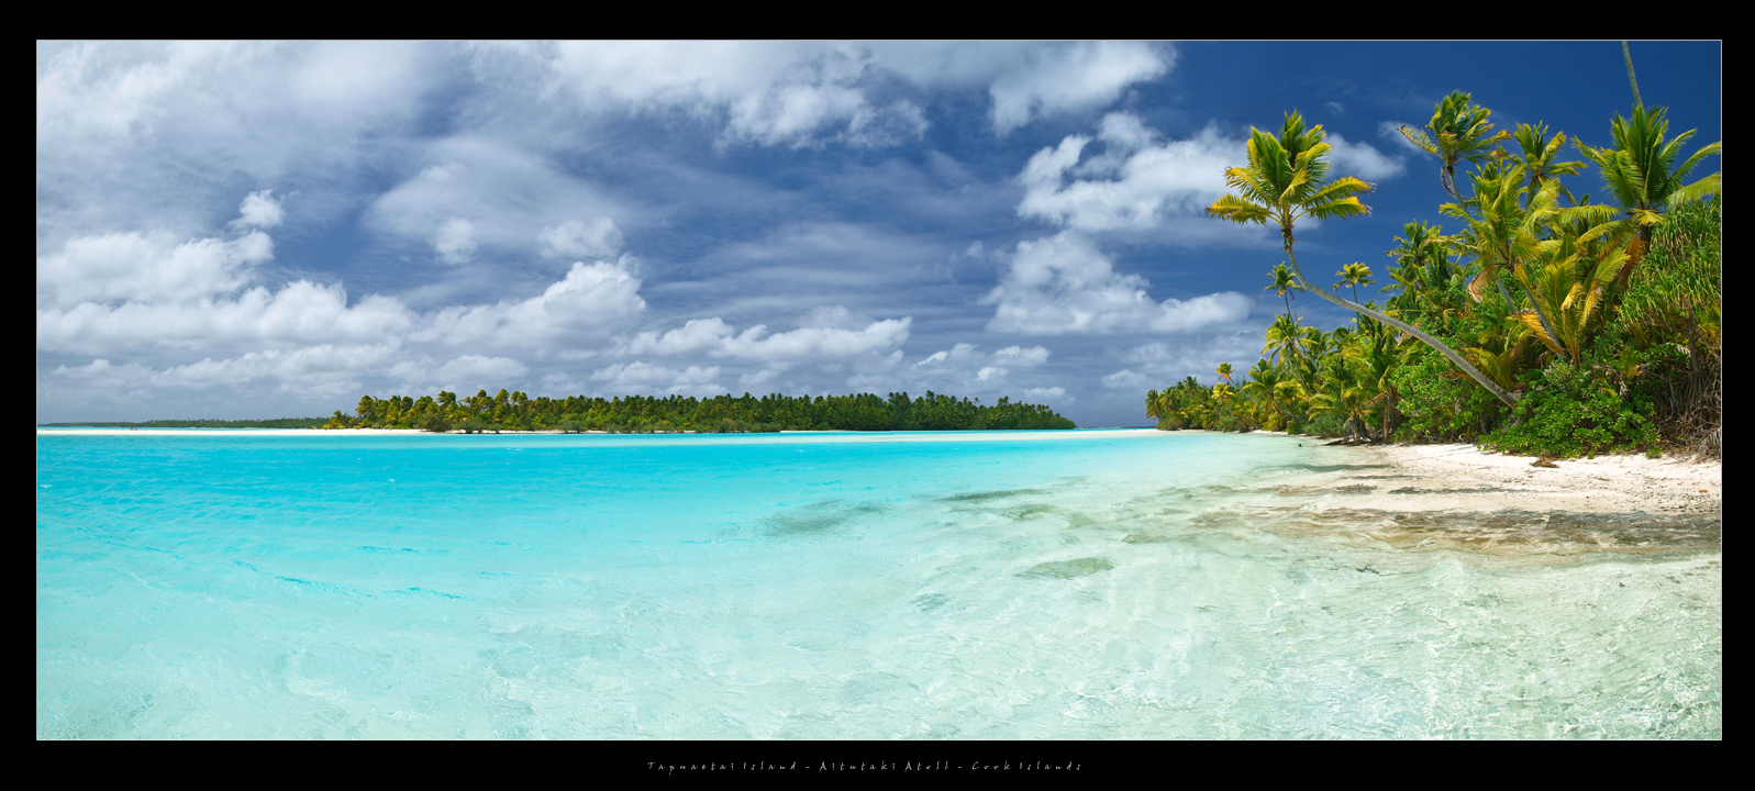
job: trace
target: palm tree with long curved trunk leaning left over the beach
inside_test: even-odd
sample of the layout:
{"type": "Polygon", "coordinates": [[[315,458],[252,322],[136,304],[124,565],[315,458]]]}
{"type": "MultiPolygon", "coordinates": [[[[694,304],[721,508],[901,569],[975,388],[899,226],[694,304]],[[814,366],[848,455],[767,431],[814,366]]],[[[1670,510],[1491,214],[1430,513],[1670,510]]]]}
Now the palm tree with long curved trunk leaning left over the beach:
{"type": "Polygon", "coordinates": [[[1501,402],[1508,405],[1516,403],[1511,393],[1469,365],[1455,349],[1423,330],[1357,302],[1348,302],[1323,289],[1311,288],[1309,279],[1299,268],[1297,256],[1292,253],[1292,244],[1295,242],[1292,228],[1299,217],[1346,219],[1369,214],[1369,209],[1358,196],[1371,191],[1371,184],[1353,177],[1341,177],[1332,182],[1325,181],[1325,175],[1329,175],[1327,154],[1330,149],[1332,146],[1323,142],[1322,125],[1306,130],[1304,119],[1297,112],[1286,114],[1279,137],[1251,128],[1250,163],[1225,172],[1225,184],[1234,193],[1213,202],[1207,212],[1232,223],[1265,224],[1272,221],[1279,226],[1279,237],[1286,251],[1286,261],[1292,265],[1295,288],[1420,338],[1420,342],[1437,349],[1451,365],[1469,374],[1471,379],[1494,393],[1501,402]]]}

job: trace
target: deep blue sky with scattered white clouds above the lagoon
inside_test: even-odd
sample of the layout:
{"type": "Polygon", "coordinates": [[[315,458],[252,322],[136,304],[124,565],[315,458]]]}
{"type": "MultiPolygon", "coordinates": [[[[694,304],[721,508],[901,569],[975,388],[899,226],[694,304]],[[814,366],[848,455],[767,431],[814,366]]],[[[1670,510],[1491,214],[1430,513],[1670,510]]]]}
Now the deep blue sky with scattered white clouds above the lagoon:
{"type": "MultiPolygon", "coordinates": [[[[1632,54],[1685,151],[1722,139],[1718,42],[1632,54]]],[[[1330,132],[1372,214],[1299,260],[1383,274],[1450,219],[1390,130],[1451,89],[1594,146],[1632,107],[1618,42],[39,42],[37,416],[504,386],[1143,424],[1281,310],[1276,235],[1202,214],[1250,126],[1330,132]]]]}

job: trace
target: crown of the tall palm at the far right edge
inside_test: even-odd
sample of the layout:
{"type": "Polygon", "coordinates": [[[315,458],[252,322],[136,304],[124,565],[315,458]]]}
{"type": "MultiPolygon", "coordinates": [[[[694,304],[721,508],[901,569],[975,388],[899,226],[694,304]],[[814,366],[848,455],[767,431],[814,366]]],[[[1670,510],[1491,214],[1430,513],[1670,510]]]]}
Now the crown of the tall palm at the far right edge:
{"type": "Polygon", "coordinates": [[[1616,112],[1609,126],[1615,147],[1594,147],[1572,140],[1590,161],[1602,168],[1602,182],[1620,203],[1623,216],[1615,219],[1615,209],[1608,205],[1569,209],[1567,216],[1590,216],[1594,223],[1602,223],[1580,242],[1595,237],[1615,242],[1627,240],[1627,263],[1622,265],[1616,277],[1622,289],[1627,288],[1634,267],[1651,246],[1651,232],[1664,224],[1664,212],[1718,195],[1723,186],[1720,174],[1706,175],[1692,184],[1687,182],[1688,174],[1701,165],[1701,160],[1720,153],[1720,144],[1709,142],[1678,165],[1676,156],[1681,154],[1681,144],[1697,130],[1683,132],[1674,140],[1664,142],[1664,133],[1669,132],[1664,112],[1662,107],[1646,112],[1644,105],[1637,105],[1634,116],[1625,121],[1616,112]]]}

